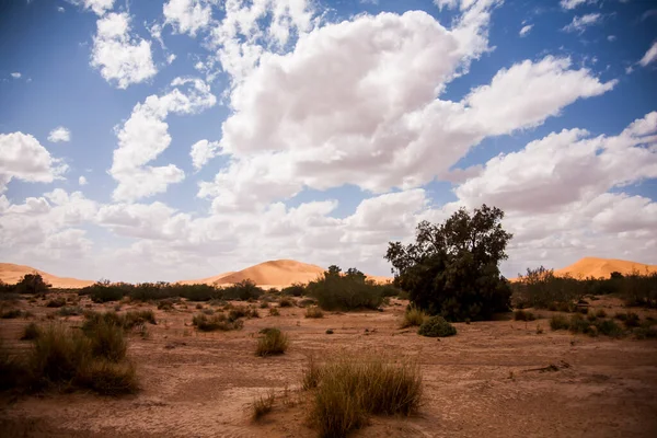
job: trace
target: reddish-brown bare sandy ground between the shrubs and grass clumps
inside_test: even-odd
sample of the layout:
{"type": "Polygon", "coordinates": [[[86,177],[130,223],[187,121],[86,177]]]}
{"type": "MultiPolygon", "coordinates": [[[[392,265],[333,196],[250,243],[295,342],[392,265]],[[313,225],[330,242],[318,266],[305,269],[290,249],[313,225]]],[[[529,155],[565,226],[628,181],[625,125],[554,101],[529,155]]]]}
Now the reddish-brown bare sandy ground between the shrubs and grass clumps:
{"type": "MultiPolygon", "coordinates": [[[[44,304],[19,306],[38,319],[54,311],[44,304]]],[[[280,309],[280,316],[260,310],[263,318],[247,320],[239,332],[209,334],[191,326],[195,303],[155,310],[159,324],[149,326],[150,338],[134,335],[129,347],[142,385],[138,395],[4,395],[0,436],[314,437],[306,422],[307,395],[299,390],[302,369],[310,355],[321,360],[345,354],[412,357],[424,377],[419,415],[374,417],[354,437],[657,436],[656,341],[551,332],[548,311],[534,322],[461,323],[457,336],[426,338],[399,328],[404,304],[393,300],[383,312],[313,320],[299,308],[280,309]],[[289,334],[284,356],[254,355],[257,331],[267,326],[289,334]],[[551,364],[558,371],[537,370],[551,364]],[[274,411],[253,423],[251,404],[269,390],[277,396],[274,411]]],[[[593,302],[611,314],[615,304],[593,302]]],[[[27,348],[16,341],[26,323],[0,320],[0,336],[13,348],[27,348]]]]}

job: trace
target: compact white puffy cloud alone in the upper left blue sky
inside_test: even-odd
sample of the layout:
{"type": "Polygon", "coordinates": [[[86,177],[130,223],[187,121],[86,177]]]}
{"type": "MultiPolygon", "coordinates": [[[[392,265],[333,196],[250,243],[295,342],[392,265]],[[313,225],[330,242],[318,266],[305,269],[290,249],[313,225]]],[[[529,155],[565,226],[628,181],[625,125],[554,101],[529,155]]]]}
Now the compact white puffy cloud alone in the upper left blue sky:
{"type": "Polygon", "coordinates": [[[130,34],[128,13],[110,13],[97,21],[91,66],[119,89],[152,78],[158,70],[151,56],[151,42],[130,34]]]}

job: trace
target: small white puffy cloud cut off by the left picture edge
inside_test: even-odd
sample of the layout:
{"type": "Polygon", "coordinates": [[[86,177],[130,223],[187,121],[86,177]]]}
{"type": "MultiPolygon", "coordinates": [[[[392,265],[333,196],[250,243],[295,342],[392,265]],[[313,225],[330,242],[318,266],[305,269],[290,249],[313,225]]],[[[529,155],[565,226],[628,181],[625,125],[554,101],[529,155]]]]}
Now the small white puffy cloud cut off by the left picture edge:
{"type": "Polygon", "coordinates": [[[12,178],[31,183],[51,183],[67,165],[55,159],[28,134],[0,134],[0,193],[12,178]]]}

